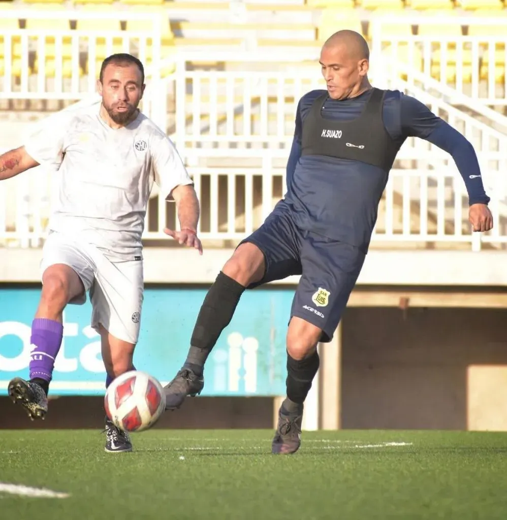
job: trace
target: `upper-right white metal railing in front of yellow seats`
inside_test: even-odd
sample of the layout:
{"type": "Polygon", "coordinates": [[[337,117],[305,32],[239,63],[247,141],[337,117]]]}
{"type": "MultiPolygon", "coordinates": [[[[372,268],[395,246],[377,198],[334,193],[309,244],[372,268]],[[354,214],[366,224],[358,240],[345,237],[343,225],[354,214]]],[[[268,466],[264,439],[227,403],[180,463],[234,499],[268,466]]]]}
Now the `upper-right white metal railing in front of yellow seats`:
{"type": "MultiPolygon", "coordinates": [[[[396,69],[399,61],[409,63],[414,71],[433,77],[442,85],[452,85],[486,105],[506,105],[507,76],[507,17],[446,16],[392,16],[372,17],[372,57],[382,60],[384,66],[396,69]],[[397,35],[393,28],[417,25],[439,27],[435,34],[397,35]],[[452,29],[460,27],[455,34],[452,29]],[[461,28],[495,28],[485,35],[465,35],[461,28]],[[500,30],[498,30],[500,28],[500,30]]],[[[434,31],[434,29],[432,30],[434,31]]],[[[381,60],[372,66],[381,67],[381,60]]],[[[408,81],[411,82],[410,73],[408,81]]]]}

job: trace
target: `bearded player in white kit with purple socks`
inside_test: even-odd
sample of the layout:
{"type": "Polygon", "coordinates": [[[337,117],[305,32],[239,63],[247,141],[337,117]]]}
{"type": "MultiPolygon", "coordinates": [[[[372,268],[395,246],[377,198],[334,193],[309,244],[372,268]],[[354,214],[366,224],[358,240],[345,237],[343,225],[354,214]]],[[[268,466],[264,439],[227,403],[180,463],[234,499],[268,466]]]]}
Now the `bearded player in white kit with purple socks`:
{"type": "MultiPolygon", "coordinates": [[[[142,63],[129,54],[106,58],[97,81],[101,102],[62,112],[25,146],[0,156],[0,180],[39,164],[60,176],[58,203],[42,253],[42,292],[32,323],[30,379],[8,393],[33,419],[47,412],[60,349],[62,311],[89,291],[92,327],[100,334],[106,387],[128,370],[139,337],[143,300],[141,235],[153,181],[177,206],[181,231],[165,232],[202,254],[199,201],[171,140],[138,110],[142,63]]],[[[132,451],[126,432],[106,418],[106,451],[132,451]]]]}

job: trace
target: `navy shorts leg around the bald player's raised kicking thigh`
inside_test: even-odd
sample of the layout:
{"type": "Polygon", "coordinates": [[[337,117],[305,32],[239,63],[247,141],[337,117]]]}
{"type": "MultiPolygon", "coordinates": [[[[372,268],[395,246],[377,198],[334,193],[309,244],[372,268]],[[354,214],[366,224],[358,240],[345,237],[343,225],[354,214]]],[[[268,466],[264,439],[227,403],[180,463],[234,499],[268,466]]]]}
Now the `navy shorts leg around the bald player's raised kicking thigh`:
{"type": "Polygon", "coordinates": [[[264,255],[263,278],[249,285],[253,289],[263,283],[301,274],[300,251],[302,233],[296,228],[288,210],[275,210],[264,224],[241,243],[255,244],[264,255]]]}

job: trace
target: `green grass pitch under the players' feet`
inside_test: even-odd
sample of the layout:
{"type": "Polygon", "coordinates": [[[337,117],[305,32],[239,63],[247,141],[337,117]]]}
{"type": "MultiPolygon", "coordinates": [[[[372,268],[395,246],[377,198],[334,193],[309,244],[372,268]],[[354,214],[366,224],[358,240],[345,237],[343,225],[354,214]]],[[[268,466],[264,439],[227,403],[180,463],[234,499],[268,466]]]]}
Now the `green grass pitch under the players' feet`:
{"type": "Polygon", "coordinates": [[[110,454],[96,430],[0,431],[0,518],[507,518],[507,434],[303,432],[291,456],[272,434],[155,429],[110,454]]]}

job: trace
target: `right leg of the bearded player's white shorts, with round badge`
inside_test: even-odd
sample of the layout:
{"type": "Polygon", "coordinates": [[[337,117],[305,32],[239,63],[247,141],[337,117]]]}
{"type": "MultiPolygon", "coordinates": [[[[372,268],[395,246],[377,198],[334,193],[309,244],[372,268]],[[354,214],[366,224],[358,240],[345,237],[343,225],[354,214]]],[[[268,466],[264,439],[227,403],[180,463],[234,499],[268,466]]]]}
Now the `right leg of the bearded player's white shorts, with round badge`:
{"type": "Polygon", "coordinates": [[[97,262],[92,300],[92,327],[100,333],[102,324],[112,336],[136,344],[139,339],[144,298],[141,260],[112,262],[101,256],[97,262]]]}

